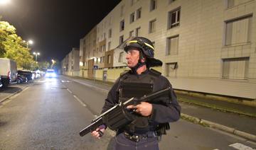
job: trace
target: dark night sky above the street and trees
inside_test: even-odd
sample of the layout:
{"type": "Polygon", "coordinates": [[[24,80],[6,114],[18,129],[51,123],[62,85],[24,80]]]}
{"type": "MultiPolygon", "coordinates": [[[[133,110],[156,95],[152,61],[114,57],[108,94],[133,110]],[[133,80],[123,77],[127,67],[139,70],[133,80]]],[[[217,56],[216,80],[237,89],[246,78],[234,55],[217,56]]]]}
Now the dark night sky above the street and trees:
{"type": "Polygon", "coordinates": [[[38,61],[61,60],[121,0],[10,0],[0,6],[23,40],[33,40],[38,61]]]}

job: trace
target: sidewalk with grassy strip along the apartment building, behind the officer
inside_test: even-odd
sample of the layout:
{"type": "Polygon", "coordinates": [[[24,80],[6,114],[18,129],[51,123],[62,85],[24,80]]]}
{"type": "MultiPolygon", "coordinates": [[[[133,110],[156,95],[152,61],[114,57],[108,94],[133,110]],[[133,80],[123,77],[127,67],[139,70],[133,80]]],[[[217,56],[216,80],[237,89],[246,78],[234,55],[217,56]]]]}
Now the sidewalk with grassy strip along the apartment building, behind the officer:
{"type": "MultiPolygon", "coordinates": [[[[81,77],[63,77],[85,86],[101,89],[105,93],[113,85],[111,82],[94,81],[81,77]]],[[[183,119],[256,141],[256,117],[252,117],[256,116],[256,108],[178,93],[177,97],[181,105],[183,119]]]]}

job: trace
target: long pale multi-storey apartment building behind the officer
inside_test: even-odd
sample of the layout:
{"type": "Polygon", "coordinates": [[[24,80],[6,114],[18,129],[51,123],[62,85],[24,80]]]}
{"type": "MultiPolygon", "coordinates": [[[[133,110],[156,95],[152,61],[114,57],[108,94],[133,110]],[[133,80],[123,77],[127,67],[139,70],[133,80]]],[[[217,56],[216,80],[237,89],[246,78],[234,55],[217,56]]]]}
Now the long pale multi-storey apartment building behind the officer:
{"type": "Polygon", "coordinates": [[[164,64],[155,69],[174,88],[255,100],[255,14],[255,0],[122,0],[92,29],[101,51],[83,51],[85,70],[114,81],[127,69],[116,47],[144,36],[164,64]]]}

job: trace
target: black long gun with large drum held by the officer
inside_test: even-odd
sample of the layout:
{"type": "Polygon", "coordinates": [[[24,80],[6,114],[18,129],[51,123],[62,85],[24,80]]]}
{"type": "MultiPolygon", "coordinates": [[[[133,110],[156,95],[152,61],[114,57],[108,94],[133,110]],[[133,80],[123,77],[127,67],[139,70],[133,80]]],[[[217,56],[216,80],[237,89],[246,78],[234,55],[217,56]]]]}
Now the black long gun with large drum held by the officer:
{"type": "MultiPolygon", "coordinates": [[[[124,103],[120,102],[116,105],[114,105],[112,108],[107,110],[105,113],[102,113],[98,117],[96,117],[94,120],[92,120],[92,123],[82,129],[80,131],[80,136],[84,136],[85,134],[88,134],[89,132],[95,131],[97,127],[100,125],[107,125],[112,130],[119,129],[120,127],[123,127],[124,125],[128,125],[130,122],[134,120],[132,117],[132,113],[134,111],[127,110],[128,105],[138,105],[142,102],[151,102],[151,100],[154,100],[154,98],[158,98],[159,96],[163,96],[166,94],[169,94],[170,87],[164,88],[162,90],[149,93],[149,95],[142,96],[141,98],[130,98],[129,100],[125,101],[124,103]]],[[[100,132],[100,134],[102,134],[100,132]]]]}

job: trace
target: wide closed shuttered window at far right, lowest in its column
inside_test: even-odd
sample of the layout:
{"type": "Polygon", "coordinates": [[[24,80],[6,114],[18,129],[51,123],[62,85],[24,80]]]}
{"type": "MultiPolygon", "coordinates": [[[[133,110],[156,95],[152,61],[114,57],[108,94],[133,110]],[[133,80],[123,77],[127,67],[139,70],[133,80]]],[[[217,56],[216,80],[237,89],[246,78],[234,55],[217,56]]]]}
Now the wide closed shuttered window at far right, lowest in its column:
{"type": "Polygon", "coordinates": [[[223,59],[223,79],[247,79],[249,57],[223,59]]]}

